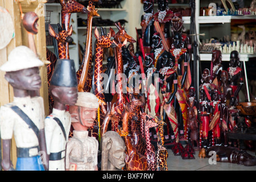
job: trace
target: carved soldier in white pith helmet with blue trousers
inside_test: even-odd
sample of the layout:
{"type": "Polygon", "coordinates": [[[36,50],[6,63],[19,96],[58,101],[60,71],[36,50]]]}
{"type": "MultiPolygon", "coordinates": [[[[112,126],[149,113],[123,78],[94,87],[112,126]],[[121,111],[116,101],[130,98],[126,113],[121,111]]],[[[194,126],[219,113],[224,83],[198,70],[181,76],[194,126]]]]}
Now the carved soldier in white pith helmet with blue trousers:
{"type": "Polygon", "coordinates": [[[14,101],[1,106],[0,129],[3,144],[2,168],[14,170],[11,162],[11,138],[15,138],[18,171],[43,171],[48,169],[46,138],[44,136],[44,106],[40,96],[30,97],[29,92],[39,90],[39,67],[44,64],[26,46],[13,49],[8,61],[2,65],[5,78],[14,91],[14,101]],[[44,152],[43,161],[39,151],[44,152]],[[44,166],[43,166],[44,164],[44,166]]]}

